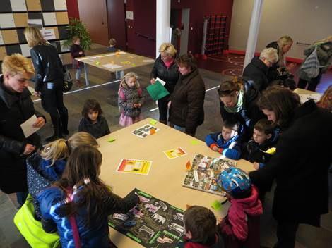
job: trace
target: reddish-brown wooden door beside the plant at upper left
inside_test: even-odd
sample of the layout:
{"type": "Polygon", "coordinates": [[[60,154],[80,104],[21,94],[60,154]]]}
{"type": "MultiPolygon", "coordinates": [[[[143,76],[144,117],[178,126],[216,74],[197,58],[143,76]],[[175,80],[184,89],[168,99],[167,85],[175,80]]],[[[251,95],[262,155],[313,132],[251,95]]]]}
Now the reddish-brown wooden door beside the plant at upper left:
{"type": "Polygon", "coordinates": [[[88,27],[94,43],[108,46],[107,6],[105,0],[79,0],[80,19],[88,27]]]}

